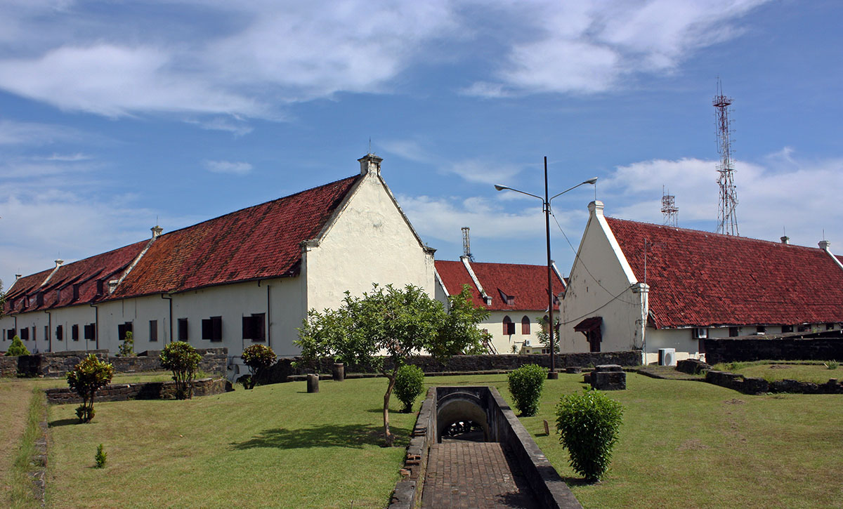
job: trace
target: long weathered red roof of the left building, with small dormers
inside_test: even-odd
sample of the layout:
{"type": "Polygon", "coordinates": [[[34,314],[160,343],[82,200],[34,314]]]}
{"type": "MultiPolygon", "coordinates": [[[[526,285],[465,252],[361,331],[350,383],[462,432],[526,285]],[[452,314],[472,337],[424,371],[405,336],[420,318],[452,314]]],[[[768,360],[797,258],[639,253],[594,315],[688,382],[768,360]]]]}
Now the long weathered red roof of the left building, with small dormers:
{"type": "Polygon", "coordinates": [[[62,265],[36,306],[40,284],[52,270],[15,281],[7,294],[19,313],[124,297],[137,297],[269,277],[298,275],[303,240],[316,238],[359,175],[231,212],[158,237],[120,286],[108,294],[108,281],[119,279],[148,240],[62,265]],[[98,295],[104,281],[105,295],[98,295]],[[79,285],[78,299],[72,298],[79,285]],[[61,292],[56,293],[56,289],[61,292]],[[30,305],[22,309],[22,297],[30,305]],[[56,301],[60,296],[61,300],[56,301]]]}

